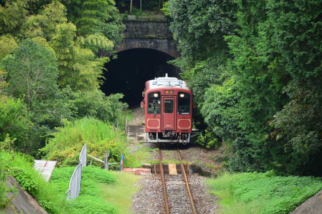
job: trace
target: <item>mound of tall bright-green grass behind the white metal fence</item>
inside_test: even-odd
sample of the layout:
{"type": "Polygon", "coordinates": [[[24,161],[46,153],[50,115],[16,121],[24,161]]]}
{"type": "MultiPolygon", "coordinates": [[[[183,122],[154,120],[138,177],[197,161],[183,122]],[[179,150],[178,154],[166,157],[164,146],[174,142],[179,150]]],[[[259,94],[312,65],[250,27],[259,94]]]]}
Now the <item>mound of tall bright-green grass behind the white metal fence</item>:
{"type": "MultiPolygon", "coordinates": [[[[101,158],[105,151],[110,150],[109,162],[120,160],[125,150],[126,138],[120,132],[113,133],[109,123],[86,116],[75,123],[66,123],[58,128],[54,138],[48,140],[41,149],[46,154],[44,159],[59,161],[58,166],[76,166],[83,145],[87,143],[87,153],[101,158]]],[[[99,162],[94,161],[99,166],[99,162]]]]}

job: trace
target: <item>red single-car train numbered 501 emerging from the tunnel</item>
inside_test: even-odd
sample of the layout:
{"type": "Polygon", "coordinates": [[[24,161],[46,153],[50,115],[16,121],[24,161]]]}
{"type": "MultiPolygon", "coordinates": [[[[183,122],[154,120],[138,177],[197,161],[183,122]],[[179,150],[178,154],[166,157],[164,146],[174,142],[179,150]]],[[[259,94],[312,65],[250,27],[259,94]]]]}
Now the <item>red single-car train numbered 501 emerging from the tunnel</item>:
{"type": "Polygon", "coordinates": [[[192,132],[192,93],[187,83],[159,77],[145,83],[141,102],[145,112],[147,142],[183,143],[192,132]]]}

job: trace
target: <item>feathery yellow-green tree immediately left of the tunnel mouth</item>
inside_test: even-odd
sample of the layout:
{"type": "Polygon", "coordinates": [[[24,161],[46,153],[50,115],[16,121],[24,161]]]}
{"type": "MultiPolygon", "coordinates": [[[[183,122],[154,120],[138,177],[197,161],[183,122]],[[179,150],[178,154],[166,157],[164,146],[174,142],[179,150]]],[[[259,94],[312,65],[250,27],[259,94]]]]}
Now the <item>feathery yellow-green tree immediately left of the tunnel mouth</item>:
{"type": "MultiPolygon", "coordinates": [[[[58,84],[70,85],[73,90],[93,90],[102,84],[102,69],[108,57],[97,58],[95,54],[73,39],[76,26],[72,23],[57,25],[57,32],[51,41],[60,65],[58,84]]],[[[85,42],[83,42],[85,43],[85,42]]]]}

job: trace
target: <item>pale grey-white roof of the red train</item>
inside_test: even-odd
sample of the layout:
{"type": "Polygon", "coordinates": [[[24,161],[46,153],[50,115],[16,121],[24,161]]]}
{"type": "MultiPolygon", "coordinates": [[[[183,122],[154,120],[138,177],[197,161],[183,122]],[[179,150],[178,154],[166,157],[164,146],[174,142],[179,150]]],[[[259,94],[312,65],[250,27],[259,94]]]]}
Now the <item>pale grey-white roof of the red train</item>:
{"type": "Polygon", "coordinates": [[[168,77],[166,73],[166,77],[158,77],[154,80],[149,80],[149,89],[156,89],[156,88],[182,88],[190,90],[187,83],[183,80],[178,80],[175,77],[168,77]]]}

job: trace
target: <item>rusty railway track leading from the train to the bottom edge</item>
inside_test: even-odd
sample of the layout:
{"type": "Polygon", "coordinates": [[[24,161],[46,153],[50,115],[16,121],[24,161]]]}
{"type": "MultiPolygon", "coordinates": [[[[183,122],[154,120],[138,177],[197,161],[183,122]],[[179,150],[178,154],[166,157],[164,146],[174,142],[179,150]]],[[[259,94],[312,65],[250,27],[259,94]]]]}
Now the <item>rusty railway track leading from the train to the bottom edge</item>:
{"type": "Polygon", "coordinates": [[[180,161],[182,174],[165,175],[162,167],[162,155],[159,148],[161,181],[166,205],[166,214],[197,214],[194,207],[194,201],[190,191],[185,168],[182,163],[180,150],[178,150],[178,159],[180,161]]]}

